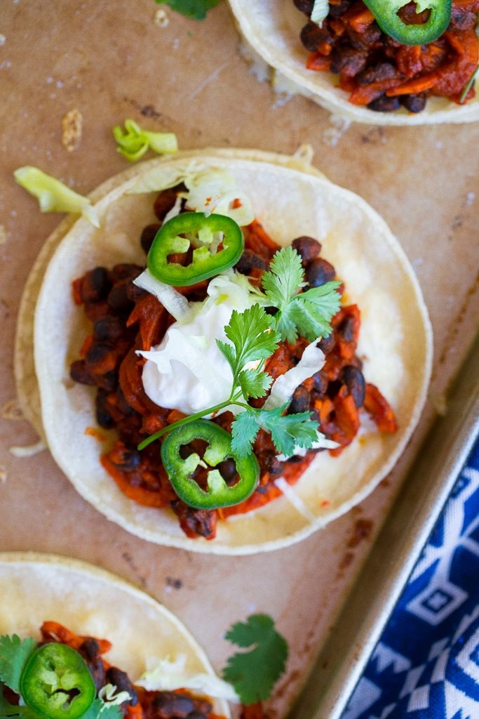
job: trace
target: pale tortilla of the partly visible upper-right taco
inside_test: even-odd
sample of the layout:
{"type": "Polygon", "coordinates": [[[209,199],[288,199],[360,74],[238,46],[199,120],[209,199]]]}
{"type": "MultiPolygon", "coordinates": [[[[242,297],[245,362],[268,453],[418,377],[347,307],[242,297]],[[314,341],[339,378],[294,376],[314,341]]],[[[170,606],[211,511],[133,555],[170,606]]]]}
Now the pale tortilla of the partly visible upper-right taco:
{"type": "Polygon", "coordinates": [[[238,29],[248,45],[264,62],[279,73],[274,77],[279,85],[287,81],[287,91],[299,93],[322,105],[333,114],[355,122],[376,125],[421,125],[444,122],[475,122],[479,120],[479,96],[465,105],[457,105],[447,98],[432,97],[425,109],[417,114],[405,109],[394,112],[375,112],[367,107],[351,104],[349,93],[338,87],[338,77],[332,73],[306,68],[299,32],[307,17],[294,7],[292,0],[229,0],[238,29]]]}

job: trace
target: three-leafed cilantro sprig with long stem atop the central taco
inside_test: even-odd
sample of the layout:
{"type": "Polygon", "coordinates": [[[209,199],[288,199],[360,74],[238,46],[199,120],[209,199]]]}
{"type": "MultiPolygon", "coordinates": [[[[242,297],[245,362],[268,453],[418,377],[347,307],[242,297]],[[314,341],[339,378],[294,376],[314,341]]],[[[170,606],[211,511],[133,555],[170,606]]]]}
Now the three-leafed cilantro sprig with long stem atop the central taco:
{"type": "Polygon", "coordinates": [[[225,327],[229,342],[216,340],[233,375],[228,399],[164,427],[144,439],[139,449],[172,429],[232,405],[241,408],[231,428],[231,449],[238,459],[253,452],[260,429],[271,434],[278,453],[287,457],[294,454],[296,447],[310,449],[313,446],[319,425],[312,419],[312,412],[285,414],[289,402],[264,409],[249,406],[248,400],[264,397],[271,387],[273,380],[265,372],[264,362],[278,349],[282,339],[293,343],[299,334],[312,342],[331,333],[330,321],[340,308],[337,291],[340,282],[301,291],[304,286],[301,258],[292,247],[283,247],[274,255],[271,270],[264,273],[262,284],[262,303],[277,308],[276,314],[271,316],[259,304],[241,313],[235,310],[225,327]]]}

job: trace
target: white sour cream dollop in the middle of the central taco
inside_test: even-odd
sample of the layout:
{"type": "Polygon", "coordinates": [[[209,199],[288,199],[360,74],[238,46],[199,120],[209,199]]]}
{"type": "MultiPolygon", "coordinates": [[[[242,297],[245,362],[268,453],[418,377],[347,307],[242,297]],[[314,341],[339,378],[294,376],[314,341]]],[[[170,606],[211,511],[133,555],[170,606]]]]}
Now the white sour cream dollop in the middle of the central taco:
{"type": "MultiPolygon", "coordinates": [[[[142,373],[144,390],[159,407],[194,414],[228,399],[232,373],[218,349],[233,310],[263,303],[244,275],[229,270],[213,278],[208,297],[190,303],[190,311],[172,324],[149,352],[142,373]]],[[[225,411],[225,410],[223,410],[225,411]]]]}

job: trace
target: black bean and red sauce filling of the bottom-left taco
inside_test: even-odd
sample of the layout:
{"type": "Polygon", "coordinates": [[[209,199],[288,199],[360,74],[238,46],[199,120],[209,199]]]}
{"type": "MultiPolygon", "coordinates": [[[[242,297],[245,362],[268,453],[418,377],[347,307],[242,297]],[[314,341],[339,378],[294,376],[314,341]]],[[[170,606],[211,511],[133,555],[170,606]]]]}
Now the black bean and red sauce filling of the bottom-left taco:
{"type": "MultiPolygon", "coordinates": [[[[106,639],[79,636],[54,621],[44,622],[40,631],[39,646],[65,644],[78,651],[90,671],[97,695],[107,684],[116,687],[116,694],[129,693],[129,700],[119,707],[126,719],[222,719],[213,713],[210,700],[195,697],[187,690],[147,691],[135,686],[126,672],[113,667],[103,657],[111,649],[111,642],[106,639]]],[[[9,702],[18,705],[19,697],[11,690],[5,689],[5,692],[8,692],[9,702]]]]}

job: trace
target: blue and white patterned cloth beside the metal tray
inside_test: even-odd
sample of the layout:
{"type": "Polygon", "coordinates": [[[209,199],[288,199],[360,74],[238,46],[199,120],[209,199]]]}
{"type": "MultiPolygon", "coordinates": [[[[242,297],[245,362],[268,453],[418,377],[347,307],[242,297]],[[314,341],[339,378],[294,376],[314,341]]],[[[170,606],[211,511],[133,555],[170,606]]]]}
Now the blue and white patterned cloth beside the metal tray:
{"type": "Polygon", "coordinates": [[[342,719],[479,719],[479,439],[342,719]]]}

